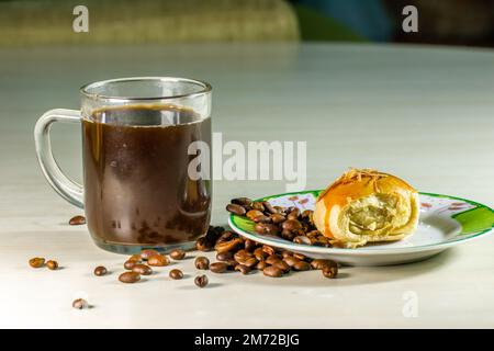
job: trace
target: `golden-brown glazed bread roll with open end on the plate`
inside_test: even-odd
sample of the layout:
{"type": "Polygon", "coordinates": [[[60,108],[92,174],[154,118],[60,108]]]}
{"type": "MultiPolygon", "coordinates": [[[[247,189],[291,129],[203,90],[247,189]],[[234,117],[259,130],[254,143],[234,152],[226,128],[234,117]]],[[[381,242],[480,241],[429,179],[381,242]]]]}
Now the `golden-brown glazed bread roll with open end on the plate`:
{"type": "Polygon", "coordinates": [[[400,240],[417,227],[417,191],[397,177],[351,169],[317,197],[314,224],[337,247],[400,240]]]}

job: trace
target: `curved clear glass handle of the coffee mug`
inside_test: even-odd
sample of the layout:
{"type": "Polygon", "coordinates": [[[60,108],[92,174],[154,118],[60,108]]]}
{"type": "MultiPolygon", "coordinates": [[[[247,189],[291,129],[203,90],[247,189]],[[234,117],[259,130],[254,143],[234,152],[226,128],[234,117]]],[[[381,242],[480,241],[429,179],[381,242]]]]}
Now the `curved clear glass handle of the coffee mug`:
{"type": "Polygon", "coordinates": [[[80,123],[80,112],[76,110],[55,109],[44,113],[34,126],[34,144],[37,160],[48,183],[65,200],[83,208],[83,189],[64,174],[57,165],[49,140],[49,129],[54,122],[80,123]]]}

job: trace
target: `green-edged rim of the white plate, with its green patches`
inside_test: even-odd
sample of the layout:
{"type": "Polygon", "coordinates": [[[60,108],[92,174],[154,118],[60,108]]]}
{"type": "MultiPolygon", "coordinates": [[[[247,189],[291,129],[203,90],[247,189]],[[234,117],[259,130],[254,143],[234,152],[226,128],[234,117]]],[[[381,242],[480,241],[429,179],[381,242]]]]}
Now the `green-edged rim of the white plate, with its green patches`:
{"type": "MultiPolygon", "coordinates": [[[[322,192],[323,190],[306,190],[306,191],[300,191],[300,192],[289,192],[289,193],[281,193],[281,194],[276,194],[276,195],[269,195],[269,196],[263,196],[263,197],[259,197],[256,199],[254,201],[269,201],[272,199],[278,199],[278,197],[282,197],[282,196],[290,196],[290,195],[304,195],[304,194],[312,194],[315,197],[318,196],[318,194],[322,192]]],[[[451,196],[451,195],[444,195],[444,194],[436,194],[436,193],[427,193],[427,192],[419,192],[420,195],[426,195],[426,196],[430,196],[430,197],[440,197],[440,199],[449,199],[449,200],[458,200],[458,201],[462,201],[465,202],[468,204],[471,204],[475,207],[473,208],[469,208],[465,210],[463,212],[457,213],[454,215],[452,215],[450,218],[454,219],[456,222],[459,223],[459,225],[461,226],[462,230],[460,233],[458,233],[453,238],[441,241],[441,242],[435,242],[435,244],[429,244],[429,245],[420,245],[420,246],[415,246],[412,248],[393,248],[393,251],[408,251],[411,249],[424,249],[424,248],[434,248],[434,247],[441,247],[441,246],[450,246],[453,245],[454,242],[459,242],[459,241],[464,241],[464,240],[470,240],[473,238],[476,238],[483,234],[486,234],[491,230],[494,229],[494,210],[471,201],[471,200],[467,200],[467,199],[462,199],[462,197],[458,197],[458,196],[451,196]],[[469,216],[469,214],[472,214],[471,216],[469,216]],[[478,228],[475,226],[470,226],[469,225],[471,223],[482,223],[485,225],[481,225],[481,228],[478,228]],[[475,229],[475,230],[473,230],[475,229]]],[[[254,231],[254,222],[243,217],[243,216],[237,216],[234,214],[229,215],[229,224],[231,226],[234,225],[236,230],[239,230],[242,233],[247,233],[249,235],[256,235],[257,234],[254,231]]],[[[263,238],[262,236],[260,236],[261,238],[263,238]]],[[[290,242],[288,240],[283,240],[283,239],[279,239],[280,244],[287,244],[287,245],[296,245],[297,247],[306,247],[306,248],[311,248],[311,249],[315,249],[317,251],[323,251],[323,250],[338,250],[339,252],[341,251],[360,251],[362,252],[361,249],[359,250],[355,250],[355,249],[334,249],[334,248],[323,248],[323,247],[314,247],[314,246],[308,246],[308,245],[303,245],[303,244],[293,244],[290,242]],[[319,250],[322,249],[322,250],[319,250]]],[[[375,250],[372,250],[375,251],[375,250]]],[[[372,252],[369,251],[369,252],[372,252]]]]}

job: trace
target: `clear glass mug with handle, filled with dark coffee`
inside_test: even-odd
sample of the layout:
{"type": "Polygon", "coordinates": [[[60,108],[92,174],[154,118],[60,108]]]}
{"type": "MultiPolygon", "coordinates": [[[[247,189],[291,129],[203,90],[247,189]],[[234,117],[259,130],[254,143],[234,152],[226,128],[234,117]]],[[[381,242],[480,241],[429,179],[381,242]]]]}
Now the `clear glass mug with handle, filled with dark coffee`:
{"type": "Polygon", "coordinates": [[[100,248],[190,249],[206,233],[211,90],[184,78],[112,79],[82,87],[80,111],[56,109],[40,117],[34,139],[43,173],[61,197],[85,210],[100,248]],[[83,186],[55,161],[54,122],[81,124],[83,186]],[[191,147],[194,141],[207,150],[191,147]]]}

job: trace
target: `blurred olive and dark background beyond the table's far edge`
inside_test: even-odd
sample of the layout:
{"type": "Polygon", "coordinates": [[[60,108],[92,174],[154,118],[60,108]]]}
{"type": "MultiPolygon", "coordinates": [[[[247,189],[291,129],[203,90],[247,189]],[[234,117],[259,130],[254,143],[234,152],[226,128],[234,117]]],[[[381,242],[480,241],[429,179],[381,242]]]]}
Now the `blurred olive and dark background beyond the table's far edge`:
{"type": "Polygon", "coordinates": [[[0,0],[0,46],[345,41],[494,46],[492,0],[0,0]],[[72,10],[89,10],[75,33],[72,10]],[[418,10],[404,33],[402,10],[418,10]]]}

